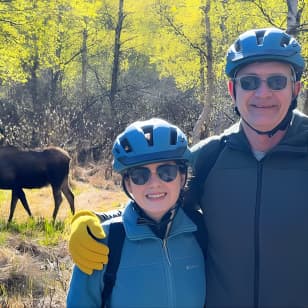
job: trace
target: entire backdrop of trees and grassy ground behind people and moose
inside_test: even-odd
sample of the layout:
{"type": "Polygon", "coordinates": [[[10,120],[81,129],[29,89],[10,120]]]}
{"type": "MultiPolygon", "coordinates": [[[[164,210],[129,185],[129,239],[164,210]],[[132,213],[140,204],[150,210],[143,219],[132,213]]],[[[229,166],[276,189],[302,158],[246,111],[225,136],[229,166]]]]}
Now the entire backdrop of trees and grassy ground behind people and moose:
{"type": "MultiPolygon", "coordinates": [[[[76,210],[116,209],[127,197],[119,178],[104,179],[115,136],[150,117],[190,144],[222,132],[237,120],[227,49],[262,27],[294,35],[307,62],[308,0],[0,0],[0,144],[66,149],[76,210]]],[[[307,69],[299,108],[308,114],[307,69]]],[[[7,225],[0,191],[0,307],[62,308],[68,204],[53,224],[50,188],[26,195],[35,219],[18,205],[7,225]]]]}

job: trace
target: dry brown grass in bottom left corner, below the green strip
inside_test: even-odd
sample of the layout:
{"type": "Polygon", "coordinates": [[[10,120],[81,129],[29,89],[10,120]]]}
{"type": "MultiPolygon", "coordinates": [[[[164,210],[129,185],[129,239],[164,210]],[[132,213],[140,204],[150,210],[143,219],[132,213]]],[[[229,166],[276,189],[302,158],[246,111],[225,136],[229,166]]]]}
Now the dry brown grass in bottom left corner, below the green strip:
{"type": "Polygon", "coordinates": [[[3,246],[1,307],[65,307],[72,267],[65,242],[46,248],[10,236],[3,246]]]}

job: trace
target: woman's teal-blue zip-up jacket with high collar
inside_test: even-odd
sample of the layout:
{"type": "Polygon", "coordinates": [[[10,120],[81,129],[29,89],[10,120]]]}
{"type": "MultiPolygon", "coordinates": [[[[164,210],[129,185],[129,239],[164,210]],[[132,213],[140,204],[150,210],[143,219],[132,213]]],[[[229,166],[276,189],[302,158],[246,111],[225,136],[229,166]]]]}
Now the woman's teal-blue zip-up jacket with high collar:
{"type": "MultiPolygon", "coordinates": [[[[123,213],[126,232],[110,307],[203,307],[205,269],[193,235],[196,225],[180,208],[170,233],[158,238],[149,226],[137,224],[131,203],[123,213]]],[[[103,223],[106,234],[110,223],[103,223]]],[[[107,241],[107,238],[103,240],[107,241]]],[[[104,270],[84,274],[74,267],[67,307],[100,307],[104,270]]]]}

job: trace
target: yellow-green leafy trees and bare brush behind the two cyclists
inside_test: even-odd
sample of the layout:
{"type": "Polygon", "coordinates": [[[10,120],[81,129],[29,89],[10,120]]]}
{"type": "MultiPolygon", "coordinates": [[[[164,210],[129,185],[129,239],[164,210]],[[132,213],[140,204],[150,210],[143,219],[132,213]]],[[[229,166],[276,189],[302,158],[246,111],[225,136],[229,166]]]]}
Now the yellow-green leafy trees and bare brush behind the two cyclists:
{"type": "MultiPolygon", "coordinates": [[[[243,31],[278,27],[308,58],[307,0],[1,0],[0,133],[109,161],[137,119],[179,125],[191,144],[234,121],[224,74],[243,31]]],[[[300,109],[308,113],[308,76],[300,109]]]]}

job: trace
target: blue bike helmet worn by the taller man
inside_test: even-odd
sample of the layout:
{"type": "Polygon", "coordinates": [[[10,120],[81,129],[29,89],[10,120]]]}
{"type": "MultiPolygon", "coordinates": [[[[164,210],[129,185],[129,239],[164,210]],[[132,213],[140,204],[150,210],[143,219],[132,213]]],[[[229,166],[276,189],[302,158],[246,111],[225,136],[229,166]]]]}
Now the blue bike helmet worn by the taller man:
{"type": "Polygon", "coordinates": [[[258,61],[289,63],[300,80],[305,62],[297,40],[277,28],[254,29],[241,34],[227,52],[226,74],[230,78],[243,66],[258,61]]]}

